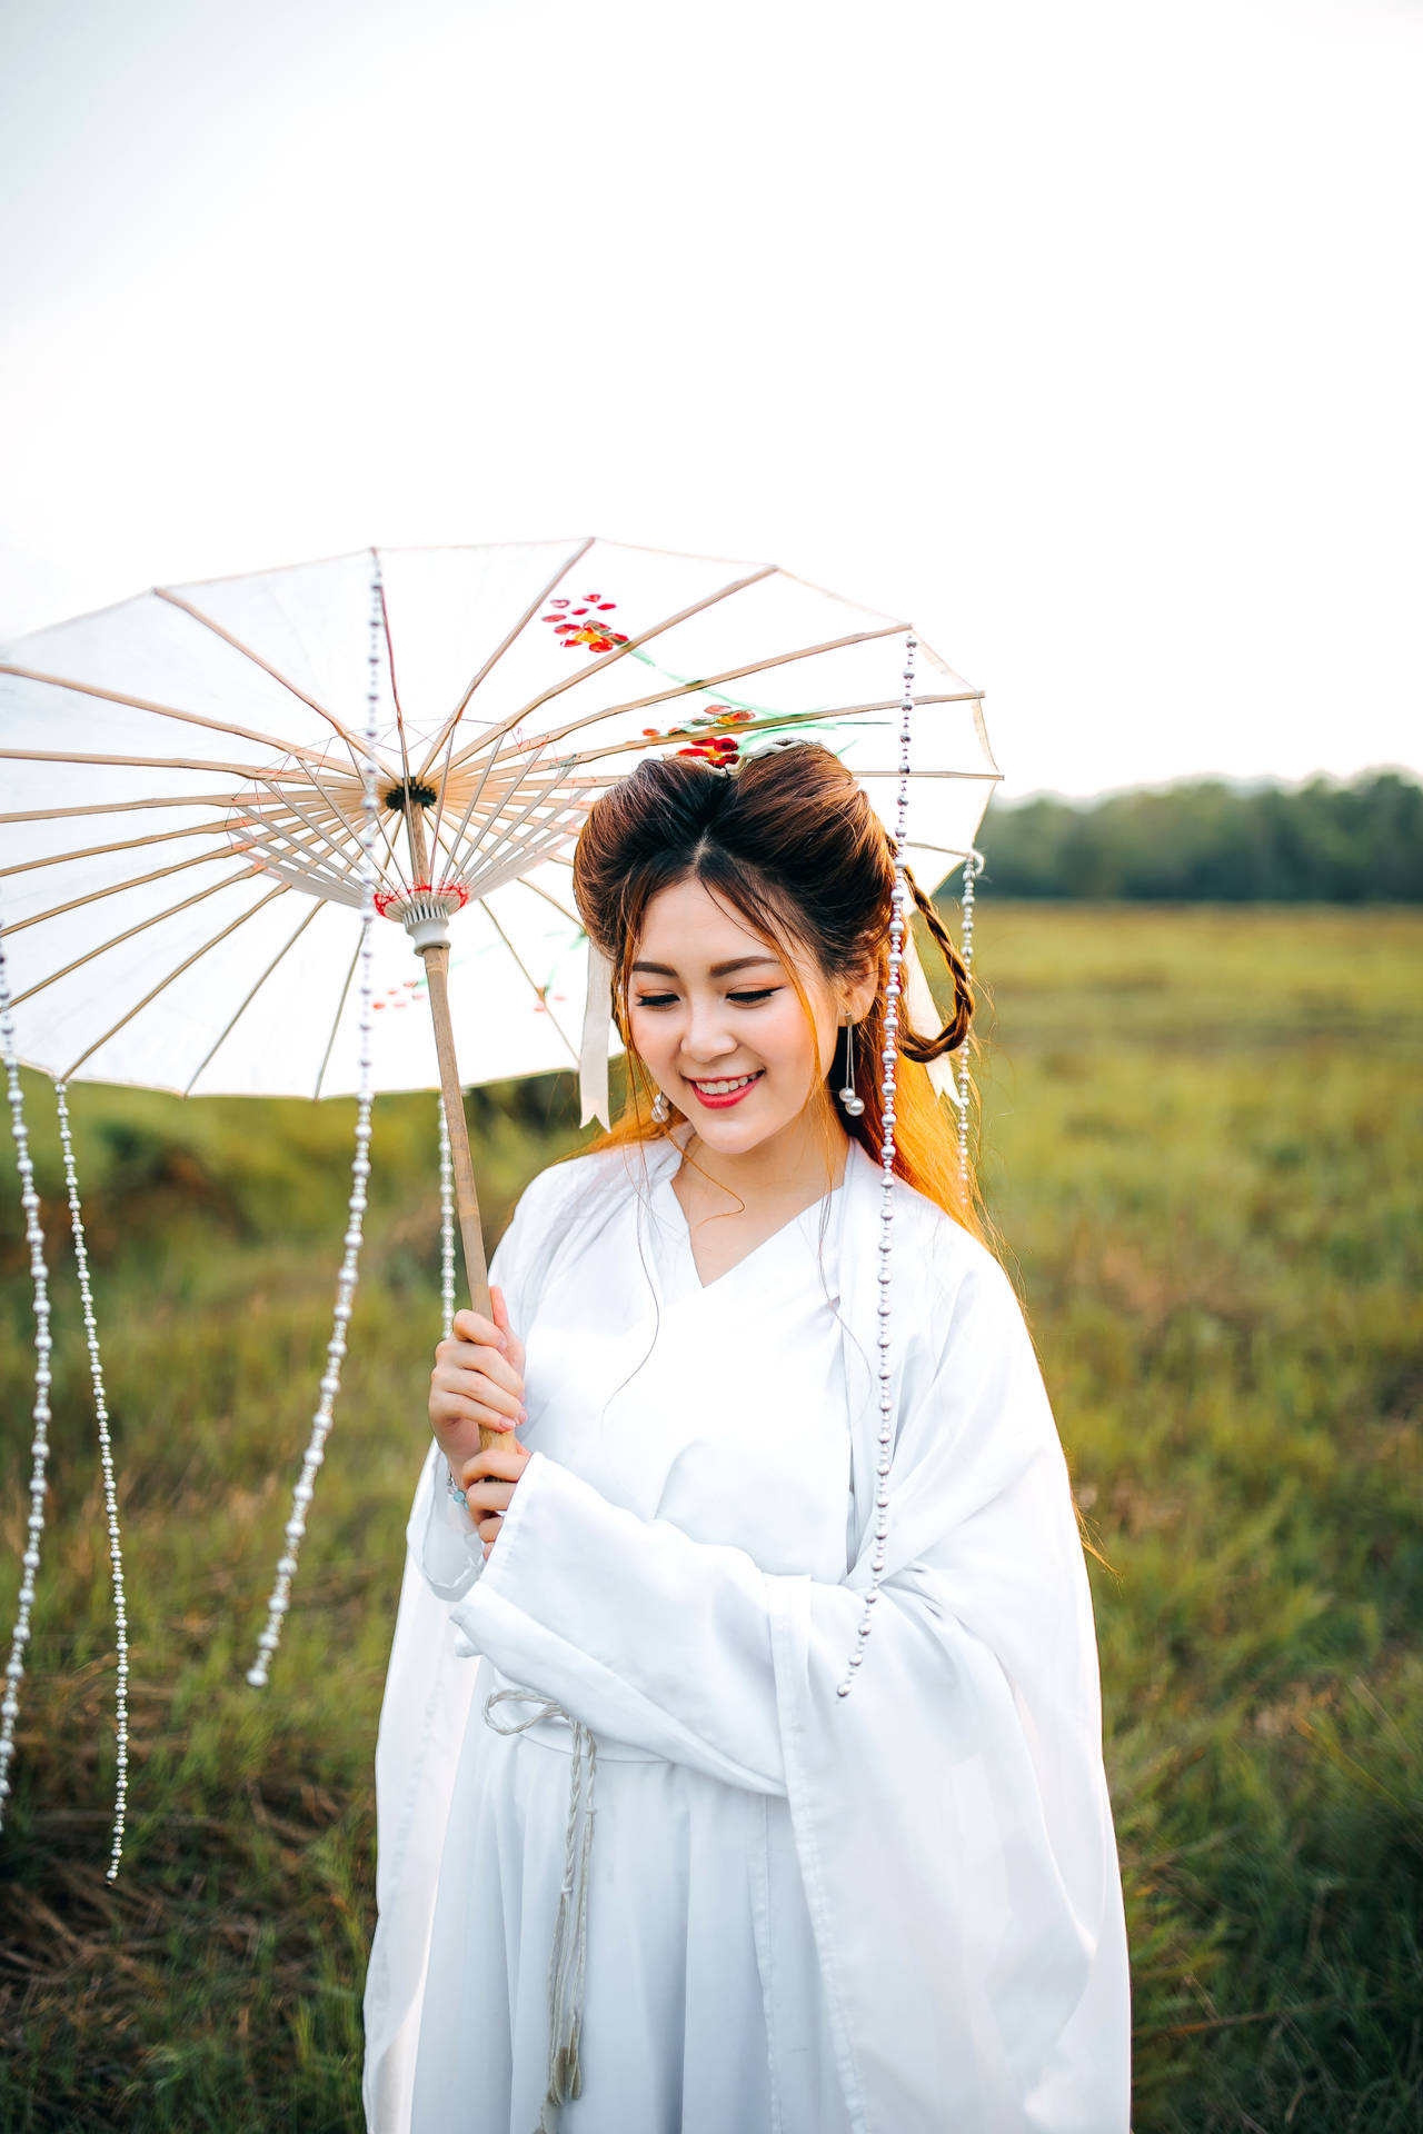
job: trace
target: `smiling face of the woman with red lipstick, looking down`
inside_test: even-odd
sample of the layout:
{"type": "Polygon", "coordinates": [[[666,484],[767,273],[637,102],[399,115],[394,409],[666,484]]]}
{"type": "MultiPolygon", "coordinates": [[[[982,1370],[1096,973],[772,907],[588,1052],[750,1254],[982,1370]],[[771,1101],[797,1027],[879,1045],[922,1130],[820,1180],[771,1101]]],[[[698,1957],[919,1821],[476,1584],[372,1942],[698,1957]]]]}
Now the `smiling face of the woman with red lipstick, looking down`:
{"type": "MultiPolygon", "coordinates": [[[[796,975],[830,1071],[841,1001],[813,960],[796,975]]],[[[864,1014],[873,980],[847,997],[864,1014]],[[864,999],[860,999],[864,994],[864,999]]],[[[804,1110],[817,1067],[811,1031],[777,950],[700,881],[659,890],[627,973],[631,1041],[708,1148],[745,1154],[804,1110]]]]}

